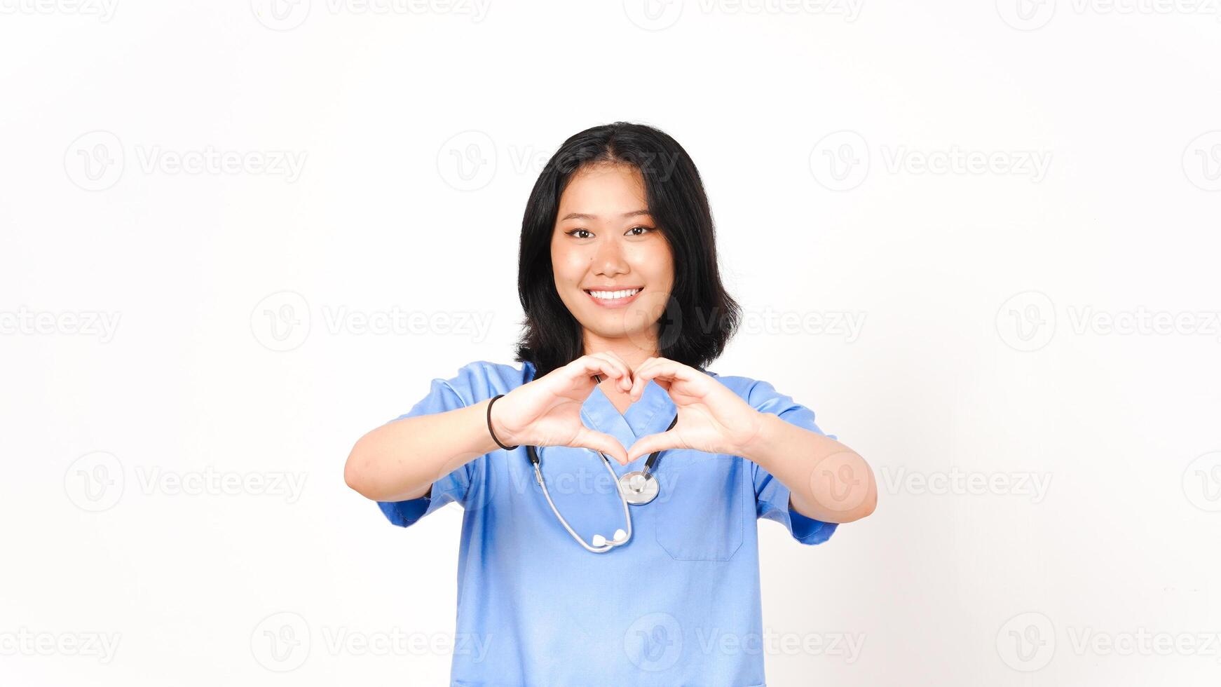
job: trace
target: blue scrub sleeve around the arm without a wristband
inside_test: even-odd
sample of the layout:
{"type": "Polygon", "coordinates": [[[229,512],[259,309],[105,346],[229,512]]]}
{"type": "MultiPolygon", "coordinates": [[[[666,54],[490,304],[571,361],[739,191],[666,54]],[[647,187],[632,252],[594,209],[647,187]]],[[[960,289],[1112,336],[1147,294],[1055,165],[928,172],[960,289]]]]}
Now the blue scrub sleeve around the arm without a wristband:
{"type": "MultiPolygon", "coordinates": [[[[756,382],[747,393],[747,403],[759,412],[770,412],[797,427],[818,432],[832,439],[836,438],[818,428],[818,425],[814,423],[813,410],[794,401],[791,397],[777,392],[768,382],[756,382]]],[[[797,513],[789,503],[791,493],[789,487],[757,462],[747,462],[751,465],[751,475],[755,481],[755,505],[758,517],[784,525],[792,538],[802,544],[821,544],[830,538],[839,526],[838,522],[823,522],[797,513]]]]}

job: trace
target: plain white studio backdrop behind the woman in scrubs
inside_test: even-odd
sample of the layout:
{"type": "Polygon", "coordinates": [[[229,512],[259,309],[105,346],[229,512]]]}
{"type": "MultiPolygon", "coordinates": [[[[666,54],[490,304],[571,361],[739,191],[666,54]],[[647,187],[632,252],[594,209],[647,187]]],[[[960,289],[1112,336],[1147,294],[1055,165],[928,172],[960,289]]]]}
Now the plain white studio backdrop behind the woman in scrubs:
{"type": "Polygon", "coordinates": [[[680,641],[1216,683],[1216,2],[0,10],[0,683],[446,683],[462,510],[394,527],[343,461],[513,362],[527,193],[617,120],[706,183],[711,369],[879,484],[817,547],[759,522],[763,637],[680,641]]]}

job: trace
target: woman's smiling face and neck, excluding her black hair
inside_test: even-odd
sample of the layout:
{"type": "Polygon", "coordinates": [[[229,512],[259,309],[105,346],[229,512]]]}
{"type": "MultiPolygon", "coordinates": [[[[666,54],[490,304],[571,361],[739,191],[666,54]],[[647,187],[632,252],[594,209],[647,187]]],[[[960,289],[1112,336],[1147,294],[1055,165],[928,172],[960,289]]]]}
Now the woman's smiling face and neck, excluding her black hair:
{"type": "Polygon", "coordinates": [[[587,351],[591,343],[631,344],[656,354],[674,259],[645,198],[640,170],[603,164],[573,174],[559,199],[551,238],[556,290],[585,329],[587,351]]]}

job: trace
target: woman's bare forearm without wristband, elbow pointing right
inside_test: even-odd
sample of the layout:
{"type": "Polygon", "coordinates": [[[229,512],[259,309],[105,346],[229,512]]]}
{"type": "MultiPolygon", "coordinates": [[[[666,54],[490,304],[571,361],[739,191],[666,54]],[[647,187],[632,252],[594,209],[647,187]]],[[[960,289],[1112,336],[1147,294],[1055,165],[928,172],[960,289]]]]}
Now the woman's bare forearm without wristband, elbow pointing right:
{"type": "Polygon", "coordinates": [[[852,449],[761,412],[759,432],[740,455],[789,487],[797,513],[823,522],[851,522],[878,503],[873,470],[852,449]]]}

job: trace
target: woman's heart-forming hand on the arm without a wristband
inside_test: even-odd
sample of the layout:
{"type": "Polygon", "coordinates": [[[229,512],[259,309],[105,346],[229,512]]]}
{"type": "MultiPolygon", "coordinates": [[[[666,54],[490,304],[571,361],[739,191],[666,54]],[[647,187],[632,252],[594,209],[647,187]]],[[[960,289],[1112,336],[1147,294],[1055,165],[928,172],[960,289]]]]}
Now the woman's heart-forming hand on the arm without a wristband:
{"type": "Polygon", "coordinates": [[[763,414],[713,377],[665,358],[650,358],[631,375],[632,401],[645,393],[650,379],[665,389],[678,410],[674,428],[641,437],[628,449],[628,462],[654,450],[695,449],[741,455],[742,447],[758,434],[763,414]]]}

